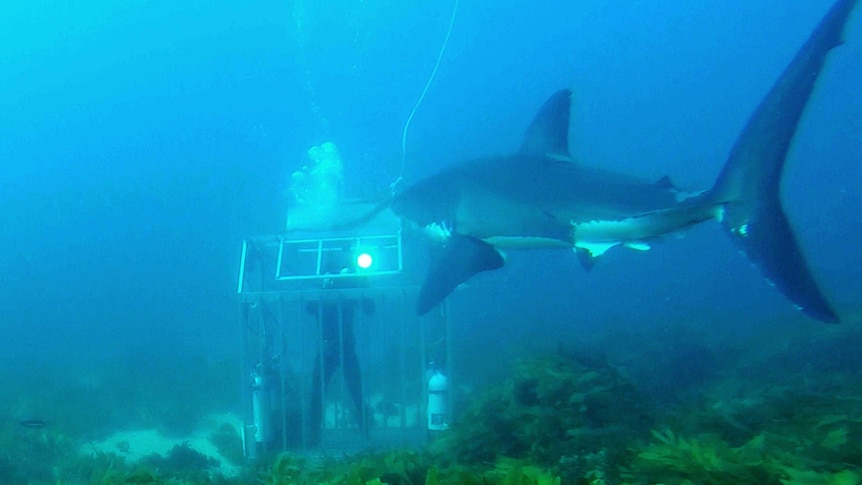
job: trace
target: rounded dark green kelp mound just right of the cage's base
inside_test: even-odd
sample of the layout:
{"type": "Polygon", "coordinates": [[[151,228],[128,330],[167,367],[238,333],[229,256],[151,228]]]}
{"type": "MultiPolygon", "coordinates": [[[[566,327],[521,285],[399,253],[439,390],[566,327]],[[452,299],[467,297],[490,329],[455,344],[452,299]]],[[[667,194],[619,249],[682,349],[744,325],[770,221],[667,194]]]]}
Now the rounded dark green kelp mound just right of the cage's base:
{"type": "Polygon", "coordinates": [[[522,360],[431,445],[441,463],[525,460],[559,475],[616,480],[629,441],[650,426],[643,396],[614,368],[573,356],[522,360]]]}

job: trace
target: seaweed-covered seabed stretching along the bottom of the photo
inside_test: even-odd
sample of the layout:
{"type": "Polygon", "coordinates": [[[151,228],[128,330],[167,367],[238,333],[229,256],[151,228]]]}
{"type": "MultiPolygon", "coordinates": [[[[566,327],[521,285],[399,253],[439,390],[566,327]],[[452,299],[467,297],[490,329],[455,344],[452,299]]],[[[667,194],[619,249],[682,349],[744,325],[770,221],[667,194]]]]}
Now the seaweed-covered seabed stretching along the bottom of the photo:
{"type": "MultiPolygon", "coordinates": [[[[838,346],[823,339],[816,344],[815,354],[838,346]]],[[[655,387],[655,381],[635,382],[603,358],[562,352],[525,358],[501,383],[472,394],[451,428],[421,449],[338,458],[282,453],[252,463],[242,455],[236,428],[225,424],[211,431],[210,441],[242,467],[236,477],[222,476],[215,460],[188,444],[131,463],[115,453],[88,452],[81,447],[88,436],[129,420],[180,431],[182,426],[169,424],[173,411],[165,408],[177,396],[158,391],[141,399],[154,386],[133,378],[140,390],[123,395],[131,403],[123,407],[116,406],[122,393],[97,393],[103,399],[94,404],[83,388],[71,386],[62,390],[62,409],[40,408],[32,397],[19,402],[15,416],[45,416],[45,426],[0,426],[0,483],[862,485],[858,362],[844,351],[840,365],[821,355],[810,367],[782,355],[787,351],[778,346],[757,351],[762,354],[710,361],[721,363],[721,372],[683,382],[682,392],[663,401],[645,397],[644,387],[655,387]],[[776,369],[785,362],[795,367],[776,369]],[[138,412],[142,417],[130,417],[138,412]],[[88,428],[102,418],[102,428],[88,428]]],[[[188,424],[211,411],[190,407],[174,416],[188,424]]]]}

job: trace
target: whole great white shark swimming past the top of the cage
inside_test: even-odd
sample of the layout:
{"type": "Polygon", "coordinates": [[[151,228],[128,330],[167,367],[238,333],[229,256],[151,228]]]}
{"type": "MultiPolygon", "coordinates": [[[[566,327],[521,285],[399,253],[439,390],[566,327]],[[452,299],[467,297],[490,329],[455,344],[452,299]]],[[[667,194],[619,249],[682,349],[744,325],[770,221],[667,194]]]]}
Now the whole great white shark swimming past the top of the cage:
{"type": "MultiPolygon", "coordinates": [[[[387,207],[444,242],[419,292],[428,312],[507,248],[572,248],[586,268],[614,247],[638,250],[715,219],[763,275],[805,314],[837,322],[780,201],[781,174],[827,54],[843,42],[856,0],[838,0],[748,120],[715,184],[684,192],[588,167],[569,154],[571,92],[554,93],[520,150],[467,161],[396,192],[387,207]]],[[[366,219],[370,216],[366,216],[366,219]]]]}

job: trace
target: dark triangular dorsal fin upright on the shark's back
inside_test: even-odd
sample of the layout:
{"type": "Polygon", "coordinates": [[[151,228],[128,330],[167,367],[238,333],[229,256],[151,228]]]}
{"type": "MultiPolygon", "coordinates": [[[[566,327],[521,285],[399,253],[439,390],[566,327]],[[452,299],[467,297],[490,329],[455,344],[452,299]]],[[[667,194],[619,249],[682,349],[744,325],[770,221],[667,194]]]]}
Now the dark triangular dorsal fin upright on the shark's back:
{"type": "Polygon", "coordinates": [[[571,158],[569,155],[571,98],[572,91],[562,89],[545,101],[527,128],[524,143],[521,145],[521,153],[571,158]]]}

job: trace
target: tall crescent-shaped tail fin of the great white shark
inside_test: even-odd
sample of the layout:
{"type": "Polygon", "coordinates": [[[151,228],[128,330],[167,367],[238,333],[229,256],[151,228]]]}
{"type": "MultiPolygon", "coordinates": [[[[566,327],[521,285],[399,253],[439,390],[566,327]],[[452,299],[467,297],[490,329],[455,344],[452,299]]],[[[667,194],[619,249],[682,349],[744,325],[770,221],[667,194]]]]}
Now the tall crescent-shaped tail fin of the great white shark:
{"type": "Polygon", "coordinates": [[[857,0],[838,0],[761,101],[709,196],[734,242],[807,315],[837,322],[781,208],[781,173],[829,51],[857,0]]]}

